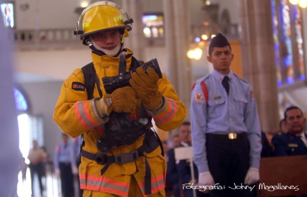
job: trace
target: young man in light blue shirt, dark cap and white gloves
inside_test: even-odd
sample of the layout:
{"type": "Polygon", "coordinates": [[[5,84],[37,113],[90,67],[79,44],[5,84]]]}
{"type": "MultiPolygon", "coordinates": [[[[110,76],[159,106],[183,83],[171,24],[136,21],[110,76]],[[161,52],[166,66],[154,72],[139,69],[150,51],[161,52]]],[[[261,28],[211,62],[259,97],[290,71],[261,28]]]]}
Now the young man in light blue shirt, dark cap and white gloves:
{"type": "Polygon", "coordinates": [[[207,59],[214,70],[195,83],[190,108],[199,184],[222,186],[212,196],[243,196],[244,190],[231,188],[259,180],[261,132],[255,97],[249,83],[230,70],[233,54],[224,35],[212,39],[207,59]]]}

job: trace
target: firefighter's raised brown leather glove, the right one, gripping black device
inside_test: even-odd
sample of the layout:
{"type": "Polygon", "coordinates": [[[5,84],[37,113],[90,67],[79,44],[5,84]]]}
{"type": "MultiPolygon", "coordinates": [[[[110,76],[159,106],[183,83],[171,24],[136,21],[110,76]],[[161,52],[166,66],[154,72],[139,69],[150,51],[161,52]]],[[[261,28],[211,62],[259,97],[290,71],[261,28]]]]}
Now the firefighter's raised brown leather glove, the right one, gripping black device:
{"type": "Polygon", "coordinates": [[[137,71],[131,74],[129,83],[137,92],[138,98],[142,99],[144,107],[156,111],[163,105],[158,86],[159,76],[151,67],[146,72],[141,67],[137,68],[137,71]]]}

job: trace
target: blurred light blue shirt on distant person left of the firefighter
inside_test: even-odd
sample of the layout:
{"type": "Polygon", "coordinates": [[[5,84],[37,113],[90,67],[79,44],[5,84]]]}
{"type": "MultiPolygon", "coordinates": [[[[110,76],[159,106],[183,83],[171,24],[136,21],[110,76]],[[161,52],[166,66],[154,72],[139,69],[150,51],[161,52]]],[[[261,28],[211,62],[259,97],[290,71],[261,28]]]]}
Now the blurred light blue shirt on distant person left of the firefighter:
{"type": "Polygon", "coordinates": [[[76,167],[76,156],[74,151],[74,144],[69,142],[65,147],[65,144],[62,142],[55,148],[53,164],[55,169],[59,168],[59,163],[70,163],[71,166],[76,167]]]}

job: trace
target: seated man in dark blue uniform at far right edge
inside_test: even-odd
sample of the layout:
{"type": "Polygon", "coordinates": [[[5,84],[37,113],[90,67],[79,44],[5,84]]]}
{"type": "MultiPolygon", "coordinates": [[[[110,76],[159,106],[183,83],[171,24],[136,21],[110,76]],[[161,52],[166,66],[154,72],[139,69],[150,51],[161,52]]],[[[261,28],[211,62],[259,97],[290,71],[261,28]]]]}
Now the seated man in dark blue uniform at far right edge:
{"type": "Polygon", "coordinates": [[[292,156],[307,154],[307,134],[304,132],[306,119],[300,108],[292,106],[284,112],[287,133],[276,135],[272,139],[274,156],[292,156]]]}

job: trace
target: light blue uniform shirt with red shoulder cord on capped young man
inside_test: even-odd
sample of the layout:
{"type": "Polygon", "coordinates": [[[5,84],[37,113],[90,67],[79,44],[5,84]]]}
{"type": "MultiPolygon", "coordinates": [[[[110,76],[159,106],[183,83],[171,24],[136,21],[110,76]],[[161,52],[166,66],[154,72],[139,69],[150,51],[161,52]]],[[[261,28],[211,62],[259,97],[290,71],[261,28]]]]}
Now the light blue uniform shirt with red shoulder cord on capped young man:
{"type": "Polygon", "coordinates": [[[191,93],[191,127],[194,162],[199,172],[209,171],[206,133],[247,132],[250,142],[251,167],[259,168],[261,130],[257,105],[251,86],[232,71],[228,74],[229,96],[222,85],[224,75],[213,70],[200,78],[191,93]],[[208,104],[201,82],[208,88],[208,104]]]}

